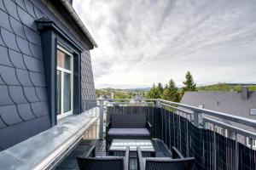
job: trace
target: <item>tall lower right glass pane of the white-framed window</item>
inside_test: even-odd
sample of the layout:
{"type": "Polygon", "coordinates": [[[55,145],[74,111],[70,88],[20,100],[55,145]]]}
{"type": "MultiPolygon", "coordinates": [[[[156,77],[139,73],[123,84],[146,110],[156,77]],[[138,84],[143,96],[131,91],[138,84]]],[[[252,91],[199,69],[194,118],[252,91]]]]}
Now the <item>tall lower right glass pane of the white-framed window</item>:
{"type": "Polygon", "coordinates": [[[64,112],[71,111],[71,76],[64,72],[64,92],[63,92],[64,112]]]}

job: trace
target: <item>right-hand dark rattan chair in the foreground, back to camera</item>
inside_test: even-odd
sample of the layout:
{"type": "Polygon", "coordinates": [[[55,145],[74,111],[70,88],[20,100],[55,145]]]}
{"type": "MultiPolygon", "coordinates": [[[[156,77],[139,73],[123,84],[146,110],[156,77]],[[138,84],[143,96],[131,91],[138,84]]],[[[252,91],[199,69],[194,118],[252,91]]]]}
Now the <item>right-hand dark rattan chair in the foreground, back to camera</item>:
{"type": "Polygon", "coordinates": [[[137,148],[137,167],[139,170],[190,170],[193,168],[195,158],[184,158],[176,149],[172,148],[172,158],[170,157],[146,157],[143,158],[140,148],[137,148]]]}

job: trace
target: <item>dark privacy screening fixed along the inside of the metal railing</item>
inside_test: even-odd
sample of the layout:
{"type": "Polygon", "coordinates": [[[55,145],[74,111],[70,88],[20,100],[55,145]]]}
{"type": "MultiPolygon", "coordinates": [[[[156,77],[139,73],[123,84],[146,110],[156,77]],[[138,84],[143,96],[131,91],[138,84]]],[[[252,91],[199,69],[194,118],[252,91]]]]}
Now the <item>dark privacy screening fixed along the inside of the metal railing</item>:
{"type": "Polygon", "coordinates": [[[238,149],[238,169],[256,169],[256,151],[236,140],[215,133],[216,160],[214,156],[214,132],[195,127],[184,116],[178,116],[171,110],[152,106],[108,106],[107,120],[110,114],[141,114],[145,113],[147,121],[152,125],[154,139],[162,139],[170,149],[180,147],[183,156],[194,156],[196,170],[235,169],[236,147],[238,149]]]}

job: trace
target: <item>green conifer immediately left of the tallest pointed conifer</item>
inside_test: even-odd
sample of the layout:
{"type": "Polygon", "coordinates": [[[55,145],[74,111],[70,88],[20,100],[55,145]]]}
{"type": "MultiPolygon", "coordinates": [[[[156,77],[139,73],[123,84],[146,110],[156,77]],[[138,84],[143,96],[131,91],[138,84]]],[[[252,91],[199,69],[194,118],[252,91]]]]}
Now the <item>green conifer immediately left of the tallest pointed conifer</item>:
{"type": "Polygon", "coordinates": [[[175,82],[171,79],[163,93],[163,99],[179,102],[179,93],[178,88],[175,85],[175,82]]]}

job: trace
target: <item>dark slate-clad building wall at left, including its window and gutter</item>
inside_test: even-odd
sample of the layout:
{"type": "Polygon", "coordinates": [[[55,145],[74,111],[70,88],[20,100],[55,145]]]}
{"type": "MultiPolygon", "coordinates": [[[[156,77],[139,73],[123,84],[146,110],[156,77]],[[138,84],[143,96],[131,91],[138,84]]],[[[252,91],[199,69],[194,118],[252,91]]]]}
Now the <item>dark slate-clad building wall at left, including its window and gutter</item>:
{"type": "Polygon", "coordinates": [[[0,0],[0,151],[95,106],[95,47],[67,0],[0,0]]]}

